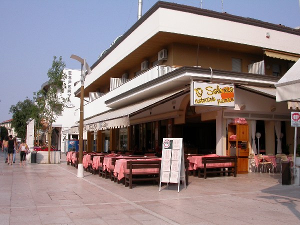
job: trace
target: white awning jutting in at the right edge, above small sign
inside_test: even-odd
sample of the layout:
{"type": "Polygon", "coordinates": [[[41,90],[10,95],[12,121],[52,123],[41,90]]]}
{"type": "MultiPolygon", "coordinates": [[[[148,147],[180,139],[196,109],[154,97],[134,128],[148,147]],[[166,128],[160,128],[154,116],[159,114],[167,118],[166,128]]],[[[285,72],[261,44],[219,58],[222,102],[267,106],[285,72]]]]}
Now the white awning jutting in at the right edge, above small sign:
{"type": "Polygon", "coordinates": [[[300,101],[300,60],[278,80],[276,87],[276,101],[300,101]]]}

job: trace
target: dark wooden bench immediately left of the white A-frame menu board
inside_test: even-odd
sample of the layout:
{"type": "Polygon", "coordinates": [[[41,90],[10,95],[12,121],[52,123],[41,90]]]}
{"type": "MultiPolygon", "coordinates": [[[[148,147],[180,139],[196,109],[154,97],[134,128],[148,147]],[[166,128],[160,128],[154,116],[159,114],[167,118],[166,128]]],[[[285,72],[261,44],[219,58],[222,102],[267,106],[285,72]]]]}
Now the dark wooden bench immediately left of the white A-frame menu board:
{"type": "Polygon", "coordinates": [[[132,188],[133,181],[157,181],[159,183],[161,160],[128,160],[126,168],[128,172],[124,172],[125,186],[132,188]],[[134,169],[157,168],[156,172],[134,172],[134,169]]]}

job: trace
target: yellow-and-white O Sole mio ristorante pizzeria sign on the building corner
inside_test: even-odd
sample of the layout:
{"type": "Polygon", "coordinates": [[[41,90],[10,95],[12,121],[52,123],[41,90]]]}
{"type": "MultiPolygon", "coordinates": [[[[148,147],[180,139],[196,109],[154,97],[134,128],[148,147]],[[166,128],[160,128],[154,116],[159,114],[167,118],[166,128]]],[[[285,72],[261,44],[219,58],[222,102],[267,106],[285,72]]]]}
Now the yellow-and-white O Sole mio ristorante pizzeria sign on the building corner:
{"type": "Polygon", "coordinates": [[[190,105],[234,107],[234,85],[191,81],[190,105]]]}

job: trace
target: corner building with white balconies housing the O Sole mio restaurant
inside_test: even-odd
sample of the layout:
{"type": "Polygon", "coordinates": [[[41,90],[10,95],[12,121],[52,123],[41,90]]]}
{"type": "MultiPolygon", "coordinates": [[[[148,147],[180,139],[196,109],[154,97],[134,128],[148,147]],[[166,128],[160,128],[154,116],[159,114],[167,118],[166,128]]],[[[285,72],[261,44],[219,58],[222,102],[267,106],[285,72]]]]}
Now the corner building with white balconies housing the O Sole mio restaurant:
{"type": "Polygon", "coordinates": [[[183,137],[185,153],[226,155],[236,118],[247,121],[247,154],[292,149],[290,110],[276,102],[274,84],[299,59],[299,41],[297,29],[157,2],[85,78],[85,97],[101,93],[84,105],[86,150],[159,151],[163,137],[183,137]],[[194,85],[211,95],[232,87],[233,98],[195,102],[194,85]]]}

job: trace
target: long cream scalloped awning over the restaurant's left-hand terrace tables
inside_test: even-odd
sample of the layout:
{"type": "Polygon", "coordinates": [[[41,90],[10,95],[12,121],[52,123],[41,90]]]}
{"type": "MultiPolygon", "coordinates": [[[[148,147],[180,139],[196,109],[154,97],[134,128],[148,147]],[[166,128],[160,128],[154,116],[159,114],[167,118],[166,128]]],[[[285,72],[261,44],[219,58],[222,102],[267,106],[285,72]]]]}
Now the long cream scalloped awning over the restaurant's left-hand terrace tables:
{"type": "MultiPolygon", "coordinates": [[[[182,87],[180,89],[173,90],[156,97],[152,97],[139,103],[130,104],[122,108],[110,110],[96,115],[92,118],[86,119],[85,121],[83,121],[83,132],[129,126],[129,116],[131,114],[137,113],[144,108],[152,107],[155,103],[161,102],[172,96],[183,94],[185,93],[185,89],[187,88],[182,87]]],[[[79,126],[71,127],[71,131],[78,131],[78,127],[79,126]]]]}

